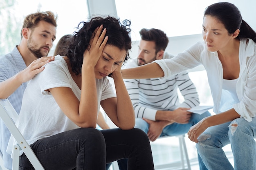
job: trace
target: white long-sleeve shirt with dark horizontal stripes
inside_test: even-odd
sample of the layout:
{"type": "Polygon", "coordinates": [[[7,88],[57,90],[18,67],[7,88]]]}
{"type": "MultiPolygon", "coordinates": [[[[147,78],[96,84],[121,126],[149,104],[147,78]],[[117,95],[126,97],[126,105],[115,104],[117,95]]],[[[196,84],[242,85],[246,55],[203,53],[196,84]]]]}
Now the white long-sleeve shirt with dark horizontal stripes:
{"type": "MultiPolygon", "coordinates": [[[[163,59],[172,57],[172,55],[164,53],[163,59]]],[[[137,66],[137,59],[135,59],[128,62],[125,67],[137,66]]],[[[191,108],[200,103],[195,85],[186,71],[165,80],[151,78],[124,79],[124,81],[137,118],[155,120],[157,110],[175,110],[178,107],[191,108]],[[184,97],[182,103],[179,100],[178,88],[184,97]]]]}

